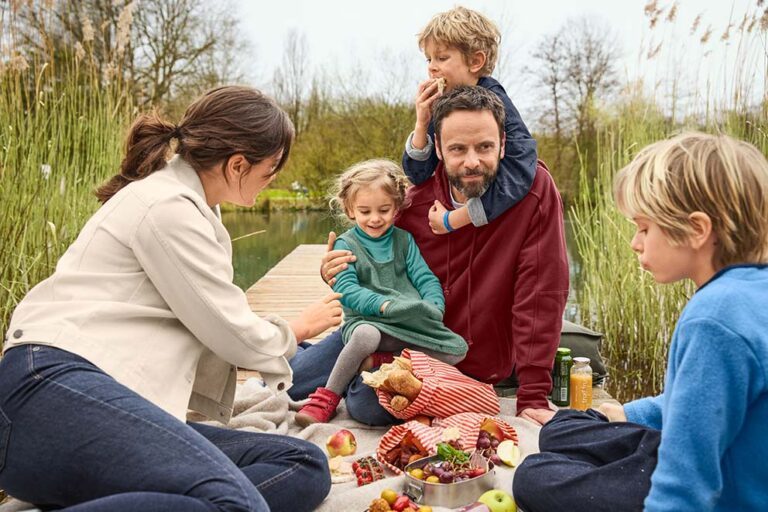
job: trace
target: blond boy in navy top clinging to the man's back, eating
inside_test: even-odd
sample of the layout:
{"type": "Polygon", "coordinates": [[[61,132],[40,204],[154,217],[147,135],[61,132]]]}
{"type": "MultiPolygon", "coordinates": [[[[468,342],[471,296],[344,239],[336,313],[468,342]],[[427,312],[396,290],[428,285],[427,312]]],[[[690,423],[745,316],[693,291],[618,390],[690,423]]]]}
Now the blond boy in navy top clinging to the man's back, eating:
{"type": "MultiPolygon", "coordinates": [[[[473,176],[476,171],[474,193],[469,194],[466,205],[454,201],[454,210],[446,210],[435,201],[429,212],[435,234],[448,233],[470,222],[483,226],[494,220],[525,197],[536,175],[536,141],[504,88],[490,76],[496,66],[500,40],[501,34],[493,22],[464,7],[435,15],[419,34],[419,48],[427,58],[430,78],[419,84],[416,126],[408,136],[403,154],[403,169],[415,185],[432,176],[439,162],[431,110],[443,89],[461,85],[485,87],[501,99],[506,112],[506,133],[502,134],[504,157],[499,163],[498,175],[495,179],[493,176],[483,179],[478,169],[466,169],[465,177],[473,176]]],[[[473,149],[482,151],[482,148],[473,149]]],[[[467,149],[443,149],[461,150],[467,149]]]]}

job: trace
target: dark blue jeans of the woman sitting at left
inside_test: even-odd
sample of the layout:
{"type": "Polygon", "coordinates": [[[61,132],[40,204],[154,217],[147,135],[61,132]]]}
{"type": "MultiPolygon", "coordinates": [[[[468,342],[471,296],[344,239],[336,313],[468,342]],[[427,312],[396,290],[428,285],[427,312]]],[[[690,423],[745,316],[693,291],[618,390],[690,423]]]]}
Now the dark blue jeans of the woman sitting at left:
{"type": "Polygon", "coordinates": [[[313,510],[330,487],[309,442],[185,424],[56,348],[0,360],[0,488],[40,508],[313,510]]]}

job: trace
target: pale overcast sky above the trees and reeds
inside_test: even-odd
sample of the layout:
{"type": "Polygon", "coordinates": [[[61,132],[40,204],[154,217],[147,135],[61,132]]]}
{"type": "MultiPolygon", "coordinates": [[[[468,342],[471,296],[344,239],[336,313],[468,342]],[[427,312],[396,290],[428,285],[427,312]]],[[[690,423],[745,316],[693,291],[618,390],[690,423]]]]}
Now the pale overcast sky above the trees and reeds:
{"type": "MultiPolygon", "coordinates": [[[[664,103],[671,96],[672,78],[678,80],[678,94],[722,98],[730,96],[734,77],[756,83],[765,91],[765,59],[739,57],[738,39],[721,37],[729,19],[736,32],[745,13],[757,11],[756,0],[659,1],[666,7],[655,29],[643,14],[647,0],[465,0],[461,5],[477,9],[499,25],[503,33],[502,63],[494,75],[523,113],[533,112],[537,91],[529,76],[520,72],[534,64],[530,54],[536,43],[561,28],[570,18],[588,16],[610,26],[622,52],[619,71],[624,81],[642,77],[646,90],[655,91],[664,103]],[[669,7],[676,3],[674,22],[666,21],[669,7]],[[697,15],[699,28],[690,35],[697,15]],[[707,27],[712,35],[700,42],[707,27]],[[648,59],[648,52],[663,43],[648,59]],[[740,71],[739,71],[740,70],[740,71]],[[748,73],[752,76],[739,75],[748,73]],[[727,78],[726,78],[727,77],[727,78]],[[707,92],[709,91],[709,93],[707,92]]],[[[424,58],[415,35],[437,12],[457,2],[446,0],[237,0],[244,37],[254,47],[248,74],[259,86],[269,88],[276,66],[283,56],[283,42],[291,30],[306,37],[312,72],[333,79],[341,73],[369,76],[374,90],[401,89],[393,94],[410,98],[426,76],[424,58]],[[353,71],[356,70],[356,71],[353,71]]],[[[746,41],[746,40],[745,40],[746,41]]],[[[750,36],[752,48],[762,47],[750,36]]],[[[763,41],[762,43],[765,43],[763,41]]],[[[355,76],[355,75],[352,75],[355,76]]],[[[699,101],[700,103],[700,101],[699,101]]]]}

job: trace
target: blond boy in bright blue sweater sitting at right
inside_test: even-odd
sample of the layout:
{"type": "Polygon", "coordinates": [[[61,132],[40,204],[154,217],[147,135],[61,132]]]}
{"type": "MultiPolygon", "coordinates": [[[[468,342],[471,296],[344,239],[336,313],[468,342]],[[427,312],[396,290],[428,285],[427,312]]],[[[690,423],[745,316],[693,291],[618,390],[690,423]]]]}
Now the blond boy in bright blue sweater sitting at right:
{"type": "Polygon", "coordinates": [[[724,135],[683,134],[643,150],[614,195],[642,267],[697,287],[664,392],[558,412],[515,499],[526,512],[766,510],[768,162],[724,135]]]}

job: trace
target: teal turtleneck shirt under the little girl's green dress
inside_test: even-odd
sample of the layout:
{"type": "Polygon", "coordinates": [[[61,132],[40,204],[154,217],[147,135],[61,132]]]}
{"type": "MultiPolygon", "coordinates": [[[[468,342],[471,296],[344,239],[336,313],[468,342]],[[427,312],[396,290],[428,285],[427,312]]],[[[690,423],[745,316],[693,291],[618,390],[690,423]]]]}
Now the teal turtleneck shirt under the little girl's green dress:
{"type": "MultiPolygon", "coordinates": [[[[386,233],[378,238],[368,236],[365,231],[355,226],[352,228],[355,232],[358,242],[376,261],[388,261],[393,257],[392,254],[392,233],[395,228],[390,227],[386,233]]],[[[351,247],[342,239],[337,239],[333,245],[334,249],[343,249],[351,251],[351,247]]],[[[408,279],[421,295],[421,298],[434,304],[440,311],[445,311],[445,297],[440,281],[429,269],[427,263],[419,252],[413,236],[408,233],[408,253],[405,257],[406,273],[408,279]]],[[[333,291],[343,294],[341,303],[366,316],[381,316],[381,305],[392,297],[386,297],[379,293],[364,288],[357,279],[355,264],[349,263],[349,266],[336,274],[336,283],[333,291]]]]}

